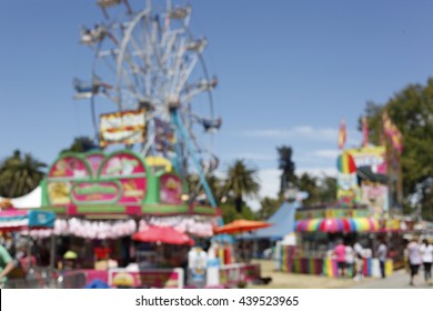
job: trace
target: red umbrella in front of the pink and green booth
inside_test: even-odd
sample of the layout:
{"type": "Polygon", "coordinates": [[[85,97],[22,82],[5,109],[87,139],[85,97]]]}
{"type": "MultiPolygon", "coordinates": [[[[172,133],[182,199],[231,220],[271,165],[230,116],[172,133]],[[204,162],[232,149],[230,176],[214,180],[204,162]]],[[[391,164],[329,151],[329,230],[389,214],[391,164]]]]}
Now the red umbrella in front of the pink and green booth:
{"type": "Polygon", "coordinates": [[[179,232],[171,227],[149,227],[147,230],[132,234],[132,240],[139,242],[153,242],[178,245],[193,245],[192,240],[188,234],[179,232]]]}

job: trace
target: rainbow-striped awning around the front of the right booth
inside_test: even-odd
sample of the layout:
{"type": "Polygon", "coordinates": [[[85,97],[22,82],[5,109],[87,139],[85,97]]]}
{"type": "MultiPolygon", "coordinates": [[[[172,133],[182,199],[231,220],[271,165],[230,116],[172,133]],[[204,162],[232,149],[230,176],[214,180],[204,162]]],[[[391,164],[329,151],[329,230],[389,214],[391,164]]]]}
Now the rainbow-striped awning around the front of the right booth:
{"type": "Polygon", "coordinates": [[[372,232],[379,229],[379,221],[372,218],[315,218],[295,223],[298,232],[372,232]]]}

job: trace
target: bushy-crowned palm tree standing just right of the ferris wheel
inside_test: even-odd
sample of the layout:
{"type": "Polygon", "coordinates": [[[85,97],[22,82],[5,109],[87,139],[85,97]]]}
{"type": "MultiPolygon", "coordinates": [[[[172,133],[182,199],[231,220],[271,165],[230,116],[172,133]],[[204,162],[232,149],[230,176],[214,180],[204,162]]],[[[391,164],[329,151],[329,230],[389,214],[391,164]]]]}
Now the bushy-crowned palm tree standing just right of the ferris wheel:
{"type": "Polygon", "coordinates": [[[249,168],[243,159],[234,160],[226,171],[224,188],[228,193],[233,195],[236,211],[242,212],[243,197],[259,193],[258,169],[249,168]]]}

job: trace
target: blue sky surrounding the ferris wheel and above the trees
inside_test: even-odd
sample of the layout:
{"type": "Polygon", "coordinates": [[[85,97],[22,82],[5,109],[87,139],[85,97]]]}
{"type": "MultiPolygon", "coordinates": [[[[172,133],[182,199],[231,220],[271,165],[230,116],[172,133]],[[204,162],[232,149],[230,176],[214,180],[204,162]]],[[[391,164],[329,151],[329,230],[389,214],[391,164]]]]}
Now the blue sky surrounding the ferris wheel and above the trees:
{"type": "MultiPolygon", "coordinates": [[[[191,31],[208,38],[220,80],[214,152],[221,169],[235,158],[256,165],[262,195],[278,191],[278,146],[294,149],[299,171],[332,173],[340,120],[359,144],[366,101],[383,103],[433,72],[431,0],[189,2],[191,31]]],[[[102,19],[95,0],[0,2],[0,159],[21,149],[51,163],[73,137],[92,134],[71,80],[91,72],[80,24],[102,19]]]]}

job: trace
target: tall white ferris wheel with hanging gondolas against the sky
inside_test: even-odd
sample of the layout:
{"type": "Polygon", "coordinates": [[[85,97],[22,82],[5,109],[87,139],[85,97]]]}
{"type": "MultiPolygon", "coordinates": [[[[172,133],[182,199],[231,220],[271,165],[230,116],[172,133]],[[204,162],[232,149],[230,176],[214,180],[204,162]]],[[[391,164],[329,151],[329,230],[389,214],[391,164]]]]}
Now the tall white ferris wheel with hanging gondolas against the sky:
{"type": "Polygon", "coordinates": [[[193,168],[214,205],[204,174],[219,162],[212,153],[212,136],[221,127],[212,98],[218,79],[209,76],[203,59],[207,39],[190,31],[191,7],[171,0],[95,1],[103,21],[80,31],[80,43],[94,56],[91,78],[73,84],[75,99],[90,100],[97,138],[98,112],[144,111],[139,117],[144,138],[137,148],[144,157],[170,158],[181,175],[193,168]],[[135,4],[144,8],[135,10],[135,4]]]}

